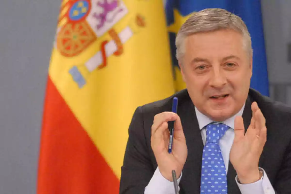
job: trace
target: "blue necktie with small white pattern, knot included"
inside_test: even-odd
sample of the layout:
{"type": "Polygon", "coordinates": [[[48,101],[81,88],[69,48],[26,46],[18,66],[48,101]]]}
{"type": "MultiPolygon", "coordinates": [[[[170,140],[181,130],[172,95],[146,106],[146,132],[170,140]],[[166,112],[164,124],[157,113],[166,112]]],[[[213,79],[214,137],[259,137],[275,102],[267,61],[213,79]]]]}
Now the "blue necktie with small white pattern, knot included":
{"type": "Polygon", "coordinates": [[[206,143],[201,166],[201,194],[227,194],[226,169],[219,140],[228,129],[229,127],[222,123],[211,123],[206,127],[206,143]]]}

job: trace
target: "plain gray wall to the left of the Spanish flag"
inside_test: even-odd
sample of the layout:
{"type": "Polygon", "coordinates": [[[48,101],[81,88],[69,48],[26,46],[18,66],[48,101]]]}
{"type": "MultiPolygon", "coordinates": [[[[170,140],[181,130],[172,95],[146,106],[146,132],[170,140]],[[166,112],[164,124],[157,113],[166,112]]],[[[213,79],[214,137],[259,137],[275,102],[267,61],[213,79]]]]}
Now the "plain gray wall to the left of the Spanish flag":
{"type": "Polygon", "coordinates": [[[60,3],[1,0],[1,194],[36,193],[42,104],[60,3]]]}

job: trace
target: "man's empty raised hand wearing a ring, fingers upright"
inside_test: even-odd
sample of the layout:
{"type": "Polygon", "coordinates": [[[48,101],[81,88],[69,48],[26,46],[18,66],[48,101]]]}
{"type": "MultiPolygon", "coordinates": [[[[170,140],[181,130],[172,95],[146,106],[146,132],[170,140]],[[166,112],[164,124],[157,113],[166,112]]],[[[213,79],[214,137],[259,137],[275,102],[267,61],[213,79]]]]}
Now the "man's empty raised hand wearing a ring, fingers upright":
{"type": "Polygon", "coordinates": [[[267,140],[265,117],[256,102],[251,107],[253,116],[246,134],[242,117],[235,118],[235,138],[230,150],[230,162],[242,184],[260,179],[258,163],[267,140]]]}

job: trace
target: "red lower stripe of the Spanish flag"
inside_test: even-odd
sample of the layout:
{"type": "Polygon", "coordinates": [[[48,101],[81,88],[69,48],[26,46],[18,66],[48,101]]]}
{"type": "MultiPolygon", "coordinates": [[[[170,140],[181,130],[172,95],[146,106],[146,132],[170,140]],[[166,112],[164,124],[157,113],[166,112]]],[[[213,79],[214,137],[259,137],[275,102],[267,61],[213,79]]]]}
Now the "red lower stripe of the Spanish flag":
{"type": "Polygon", "coordinates": [[[48,77],[37,193],[118,192],[118,178],[48,77]]]}

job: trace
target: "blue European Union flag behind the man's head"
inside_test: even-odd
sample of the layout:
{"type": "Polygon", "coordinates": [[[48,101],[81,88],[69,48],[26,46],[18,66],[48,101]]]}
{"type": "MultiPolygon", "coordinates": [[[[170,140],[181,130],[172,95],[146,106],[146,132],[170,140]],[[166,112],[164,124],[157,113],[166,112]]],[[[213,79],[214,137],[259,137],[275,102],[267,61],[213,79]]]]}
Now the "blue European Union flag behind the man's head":
{"type": "MultiPolygon", "coordinates": [[[[167,0],[165,7],[167,25],[170,26],[174,23],[174,9],[178,10],[180,15],[187,16],[192,12],[206,8],[226,9],[241,17],[245,22],[251,35],[253,47],[253,76],[251,78],[251,88],[258,90],[263,95],[269,96],[269,81],[260,0],[167,0]]],[[[175,59],[175,33],[170,32],[169,38],[173,65],[178,66],[178,61],[175,59]]]]}

